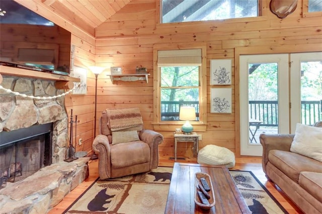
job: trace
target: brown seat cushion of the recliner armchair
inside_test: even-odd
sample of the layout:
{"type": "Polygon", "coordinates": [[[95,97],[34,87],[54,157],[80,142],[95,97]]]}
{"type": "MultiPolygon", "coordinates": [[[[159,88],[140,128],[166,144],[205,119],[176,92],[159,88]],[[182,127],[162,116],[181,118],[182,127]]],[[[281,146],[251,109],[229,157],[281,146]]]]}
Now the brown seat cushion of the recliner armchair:
{"type": "Polygon", "coordinates": [[[150,147],[143,141],[120,143],[111,146],[112,168],[122,168],[150,161],[150,147]]]}

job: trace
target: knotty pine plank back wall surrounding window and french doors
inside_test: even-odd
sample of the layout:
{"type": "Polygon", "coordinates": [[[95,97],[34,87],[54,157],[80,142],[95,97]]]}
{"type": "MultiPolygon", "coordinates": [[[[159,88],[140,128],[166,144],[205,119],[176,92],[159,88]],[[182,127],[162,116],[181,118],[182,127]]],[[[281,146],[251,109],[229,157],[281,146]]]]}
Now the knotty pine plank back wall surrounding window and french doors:
{"type": "MultiPolygon", "coordinates": [[[[102,67],[120,66],[125,73],[134,73],[135,67],[142,65],[151,74],[149,82],[111,83],[106,76],[98,80],[98,115],[106,108],[138,107],[143,115],[144,126],[152,129],[153,117],[153,55],[152,47],[160,43],[207,43],[207,131],[202,134],[200,148],[207,144],[239,151],[239,79],[233,73],[232,114],[210,113],[209,60],[232,59],[233,70],[238,54],[266,52],[309,52],[321,49],[321,17],[302,18],[302,1],[295,12],[286,19],[279,19],[269,10],[269,1],[262,4],[262,17],[207,21],[198,23],[156,24],[158,3],[155,1],[132,1],[117,14],[96,29],[96,64],[102,67]],[[276,51],[275,51],[276,50],[276,51]]],[[[236,67],[237,68],[237,67],[236,67]]],[[[236,69],[235,72],[238,72],[236,69]]],[[[229,87],[229,86],[221,86],[229,87]]],[[[160,151],[174,155],[173,132],[161,132],[165,141],[160,151]]],[[[182,145],[178,151],[190,153],[182,145]]]]}

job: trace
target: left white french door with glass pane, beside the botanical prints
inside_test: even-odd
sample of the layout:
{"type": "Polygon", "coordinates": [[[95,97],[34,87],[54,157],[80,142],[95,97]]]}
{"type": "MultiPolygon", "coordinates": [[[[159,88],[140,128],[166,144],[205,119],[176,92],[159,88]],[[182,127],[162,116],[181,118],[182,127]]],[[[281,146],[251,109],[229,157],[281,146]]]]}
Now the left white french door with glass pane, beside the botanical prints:
{"type": "Polygon", "coordinates": [[[240,154],[262,156],[261,133],[289,132],[288,54],[240,56],[240,154]]]}

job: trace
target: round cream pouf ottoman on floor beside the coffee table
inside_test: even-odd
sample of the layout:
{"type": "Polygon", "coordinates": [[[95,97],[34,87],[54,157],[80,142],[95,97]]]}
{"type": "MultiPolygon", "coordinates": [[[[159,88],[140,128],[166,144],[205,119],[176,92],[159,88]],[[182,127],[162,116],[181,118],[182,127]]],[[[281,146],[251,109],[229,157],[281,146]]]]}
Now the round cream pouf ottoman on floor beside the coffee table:
{"type": "Polygon", "coordinates": [[[235,155],[227,148],[207,145],[198,152],[199,164],[225,165],[227,168],[235,166],[235,155]]]}

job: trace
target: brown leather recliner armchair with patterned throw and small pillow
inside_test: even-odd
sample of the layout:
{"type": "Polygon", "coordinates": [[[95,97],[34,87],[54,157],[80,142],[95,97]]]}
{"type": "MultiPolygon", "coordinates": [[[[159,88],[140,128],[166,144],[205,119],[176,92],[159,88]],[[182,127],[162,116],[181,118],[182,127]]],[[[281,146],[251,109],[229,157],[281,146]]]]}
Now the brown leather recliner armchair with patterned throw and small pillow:
{"type": "Polygon", "coordinates": [[[138,108],[105,110],[93,142],[93,150],[99,154],[100,179],[157,168],[162,141],[159,133],[144,130],[138,108]]]}

